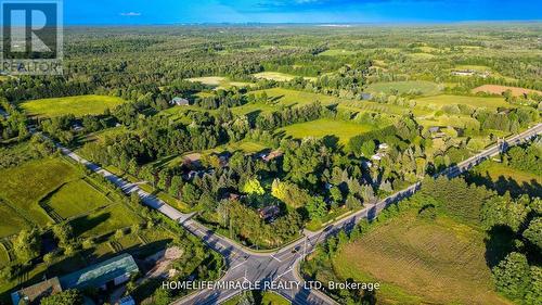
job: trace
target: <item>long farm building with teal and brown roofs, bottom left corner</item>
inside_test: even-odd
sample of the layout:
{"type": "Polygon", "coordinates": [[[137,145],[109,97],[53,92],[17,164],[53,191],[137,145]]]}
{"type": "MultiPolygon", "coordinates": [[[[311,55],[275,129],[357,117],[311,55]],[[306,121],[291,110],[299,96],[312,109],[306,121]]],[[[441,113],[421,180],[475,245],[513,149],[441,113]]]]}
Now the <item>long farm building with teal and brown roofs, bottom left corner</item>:
{"type": "Polygon", "coordinates": [[[139,272],[130,254],[122,254],[61,278],[54,277],[11,294],[14,305],[25,302],[39,304],[40,300],[68,289],[107,289],[120,285],[139,272]]]}

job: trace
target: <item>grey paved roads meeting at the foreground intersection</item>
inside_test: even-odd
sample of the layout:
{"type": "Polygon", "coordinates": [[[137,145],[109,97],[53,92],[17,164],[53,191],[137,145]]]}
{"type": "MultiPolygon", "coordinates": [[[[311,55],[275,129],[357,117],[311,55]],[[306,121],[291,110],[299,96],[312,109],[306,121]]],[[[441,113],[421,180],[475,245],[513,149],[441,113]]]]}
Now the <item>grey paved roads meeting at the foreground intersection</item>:
{"type": "MultiPolygon", "coordinates": [[[[468,160],[454,165],[437,176],[456,177],[470,169],[487,158],[506,151],[509,147],[517,145],[542,134],[542,124],[539,124],[525,132],[511,137],[468,160]]],[[[315,289],[305,287],[306,282],[298,274],[298,266],[302,258],[314,251],[319,243],[324,242],[330,236],[336,234],[339,230],[350,230],[364,218],[373,219],[380,211],[391,203],[411,196],[421,188],[421,182],[414,183],[376,204],[365,205],[347,217],[344,217],[318,232],[305,231],[301,239],[284,246],[278,251],[259,253],[246,249],[236,242],[216,234],[203,225],[192,219],[191,214],[183,214],[172,206],[166,204],[156,196],[143,191],[137,183],[130,183],[118,176],[109,173],[100,166],[80,157],[70,150],[60,147],[62,153],[74,161],[83,164],[89,169],[104,176],[115,186],[120,188],[126,194],[137,192],[142,202],[151,206],[167,217],[179,221],[188,231],[203,240],[210,249],[223,255],[228,270],[224,271],[221,281],[233,281],[238,283],[260,283],[260,287],[268,285],[269,290],[279,293],[296,305],[304,304],[336,304],[331,297],[315,289]],[[299,283],[299,285],[293,284],[299,283]],[[289,284],[289,285],[288,285],[289,284]]],[[[188,296],[180,298],[172,304],[182,305],[204,305],[220,304],[237,295],[242,290],[201,290],[194,291],[188,296]]]]}

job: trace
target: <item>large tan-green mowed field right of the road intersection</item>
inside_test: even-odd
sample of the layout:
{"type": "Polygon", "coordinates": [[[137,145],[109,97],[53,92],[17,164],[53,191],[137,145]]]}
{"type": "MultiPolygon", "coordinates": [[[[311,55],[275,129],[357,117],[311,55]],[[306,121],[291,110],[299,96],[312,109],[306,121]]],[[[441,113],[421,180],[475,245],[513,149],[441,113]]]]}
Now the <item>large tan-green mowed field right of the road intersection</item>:
{"type": "Polygon", "coordinates": [[[340,279],[378,281],[379,304],[511,304],[493,292],[485,233],[411,212],[376,227],[334,258],[340,279]]]}

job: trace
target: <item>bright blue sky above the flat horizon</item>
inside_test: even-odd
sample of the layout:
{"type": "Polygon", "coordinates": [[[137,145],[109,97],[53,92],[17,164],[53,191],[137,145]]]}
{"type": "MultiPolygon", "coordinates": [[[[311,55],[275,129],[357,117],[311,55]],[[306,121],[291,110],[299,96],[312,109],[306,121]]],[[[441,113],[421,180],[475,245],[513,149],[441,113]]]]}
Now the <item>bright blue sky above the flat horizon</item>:
{"type": "Polygon", "coordinates": [[[64,0],[65,24],[542,20],[542,0],[64,0]]]}

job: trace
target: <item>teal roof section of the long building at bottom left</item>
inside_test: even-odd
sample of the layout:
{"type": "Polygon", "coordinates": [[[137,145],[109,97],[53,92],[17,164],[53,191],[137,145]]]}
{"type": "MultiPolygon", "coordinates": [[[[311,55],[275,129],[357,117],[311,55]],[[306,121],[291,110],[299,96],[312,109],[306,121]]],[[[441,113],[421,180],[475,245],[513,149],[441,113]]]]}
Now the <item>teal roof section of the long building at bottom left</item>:
{"type": "Polygon", "coordinates": [[[130,254],[122,254],[64,276],[61,278],[61,284],[64,289],[101,287],[120,276],[138,271],[133,257],[130,254]]]}

